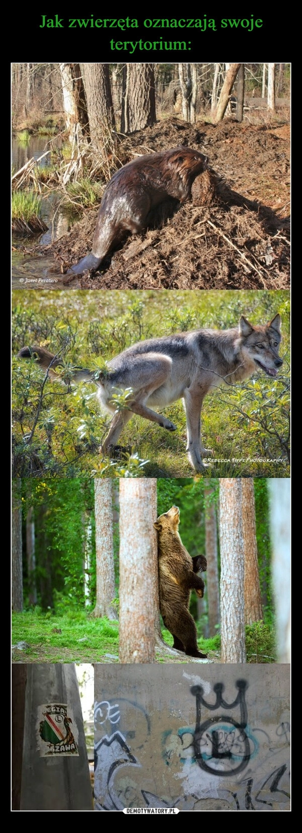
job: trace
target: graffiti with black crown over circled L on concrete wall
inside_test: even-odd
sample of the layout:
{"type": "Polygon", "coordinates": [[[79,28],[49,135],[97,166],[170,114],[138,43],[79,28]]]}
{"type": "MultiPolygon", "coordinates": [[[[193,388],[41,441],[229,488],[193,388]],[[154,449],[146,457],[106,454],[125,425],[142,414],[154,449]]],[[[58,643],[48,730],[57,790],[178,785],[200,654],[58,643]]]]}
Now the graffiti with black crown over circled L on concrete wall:
{"type": "Polygon", "coordinates": [[[168,707],[162,714],[148,715],[134,700],[97,702],[96,810],[290,809],[290,723],[280,721],[273,731],[271,726],[266,731],[249,722],[247,690],[248,682],[239,679],[235,696],[225,698],[225,686],[219,681],[212,691],[208,687],[205,699],[202,685],[191,686],[188,694],[196,701],[196,724],[177,729],[175,720],[169,726],[168,707]],[[163,715],[168,721],[165,729],[163,715]]]}

